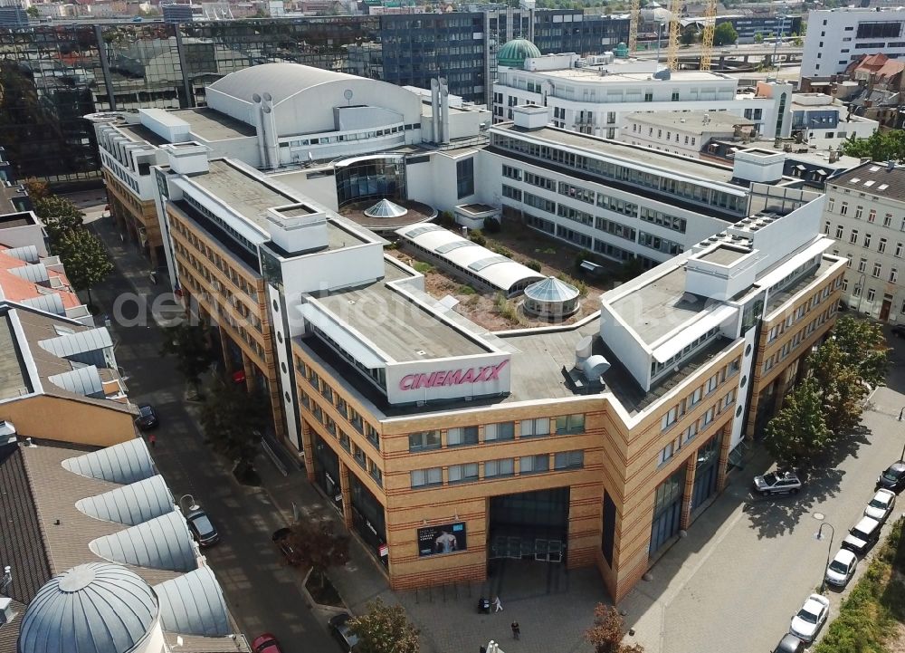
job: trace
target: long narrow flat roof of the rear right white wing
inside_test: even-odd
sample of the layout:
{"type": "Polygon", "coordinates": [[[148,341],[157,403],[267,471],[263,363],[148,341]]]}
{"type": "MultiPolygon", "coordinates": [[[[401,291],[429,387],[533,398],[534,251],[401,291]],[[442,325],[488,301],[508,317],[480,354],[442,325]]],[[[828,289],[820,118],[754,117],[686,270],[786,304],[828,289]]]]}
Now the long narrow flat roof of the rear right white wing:
{"type": "Polygon", "coordinates": [[[701,181],[717,182],[726,185],[732,184],[732,168],[700,161],[696,158],[681,157],[656,149],[648,149],[629,145],[618,140],[600,139],[573,131],[557,130],[552,127],[543,127],[539,130],[525,130],[516,127],[514,123],[494,125],[494,130],[514,131],[527,133],[532,139],[546,140],[554,145],[568,148],[583,149],[605,157],[624,159],[627,163],[641,164],[652,168],[661,168],[668,172],[677,172],[701,181]]]}

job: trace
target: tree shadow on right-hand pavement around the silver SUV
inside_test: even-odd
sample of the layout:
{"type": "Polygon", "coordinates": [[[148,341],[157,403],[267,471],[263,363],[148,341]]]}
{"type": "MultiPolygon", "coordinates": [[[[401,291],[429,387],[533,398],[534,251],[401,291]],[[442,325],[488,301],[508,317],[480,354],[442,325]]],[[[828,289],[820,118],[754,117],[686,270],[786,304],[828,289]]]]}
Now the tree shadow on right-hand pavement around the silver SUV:
{"type": "Polygon", "coordinates": [[[814,460],[810,471],[800,474],[805,486],[798,495],[766,498],[752,495],[743,511],[748,515],[750,528],[757,531],[757,538],[792,533],[801,518],[810,514],[815,506],[838,495],[845,475],[838,469],[839,464],[846,458],[857,457],[860,448],[869,444],[870,433],[869,428],[859,425],[850,435],[840,437],[814,460]]]}

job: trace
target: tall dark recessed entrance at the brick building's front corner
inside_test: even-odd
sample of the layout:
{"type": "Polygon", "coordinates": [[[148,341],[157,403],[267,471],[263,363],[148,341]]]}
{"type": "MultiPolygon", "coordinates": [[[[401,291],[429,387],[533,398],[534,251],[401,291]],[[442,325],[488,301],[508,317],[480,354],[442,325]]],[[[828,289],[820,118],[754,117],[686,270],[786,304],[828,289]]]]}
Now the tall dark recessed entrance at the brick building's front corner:
{"type": "Polygon", "coordinates": [[[566,562],[569,488],[491,497],[488,557],[566,562]]]}

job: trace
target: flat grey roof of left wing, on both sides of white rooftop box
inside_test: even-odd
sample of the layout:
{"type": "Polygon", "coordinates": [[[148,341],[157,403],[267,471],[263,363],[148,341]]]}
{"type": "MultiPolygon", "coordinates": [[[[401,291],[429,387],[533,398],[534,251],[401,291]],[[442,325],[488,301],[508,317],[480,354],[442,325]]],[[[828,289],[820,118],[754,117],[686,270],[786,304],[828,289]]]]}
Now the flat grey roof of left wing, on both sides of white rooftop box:
{"type": "MultiPolygon", "coordinates": [[[[219,197],[243,217],[265,231],[269,231],[268,220],[264,217],[268,208],[300,202],[299,197],[281,192],[264,183],[262,179],[252,177],[222,158],[211,161],[210,171],[206,174],[195,175],[188,179],[219,197]]],[[[353,232],[338,226],[333,220],[328,219],[327,230],[329,249],[342,249],[367,242],[353,232]]]]}

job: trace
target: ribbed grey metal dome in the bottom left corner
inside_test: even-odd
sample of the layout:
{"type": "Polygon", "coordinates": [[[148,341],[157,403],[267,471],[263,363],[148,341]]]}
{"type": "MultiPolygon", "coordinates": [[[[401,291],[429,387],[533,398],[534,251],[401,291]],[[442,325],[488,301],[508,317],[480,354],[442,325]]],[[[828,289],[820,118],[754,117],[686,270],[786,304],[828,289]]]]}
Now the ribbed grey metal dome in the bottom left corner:
{"type": "Polygon", "coordinates": [[[127,653],[157,619],[157,596],[118,564],[91,562],[47,581],[22,618],[18,653],[127,653]]]}

